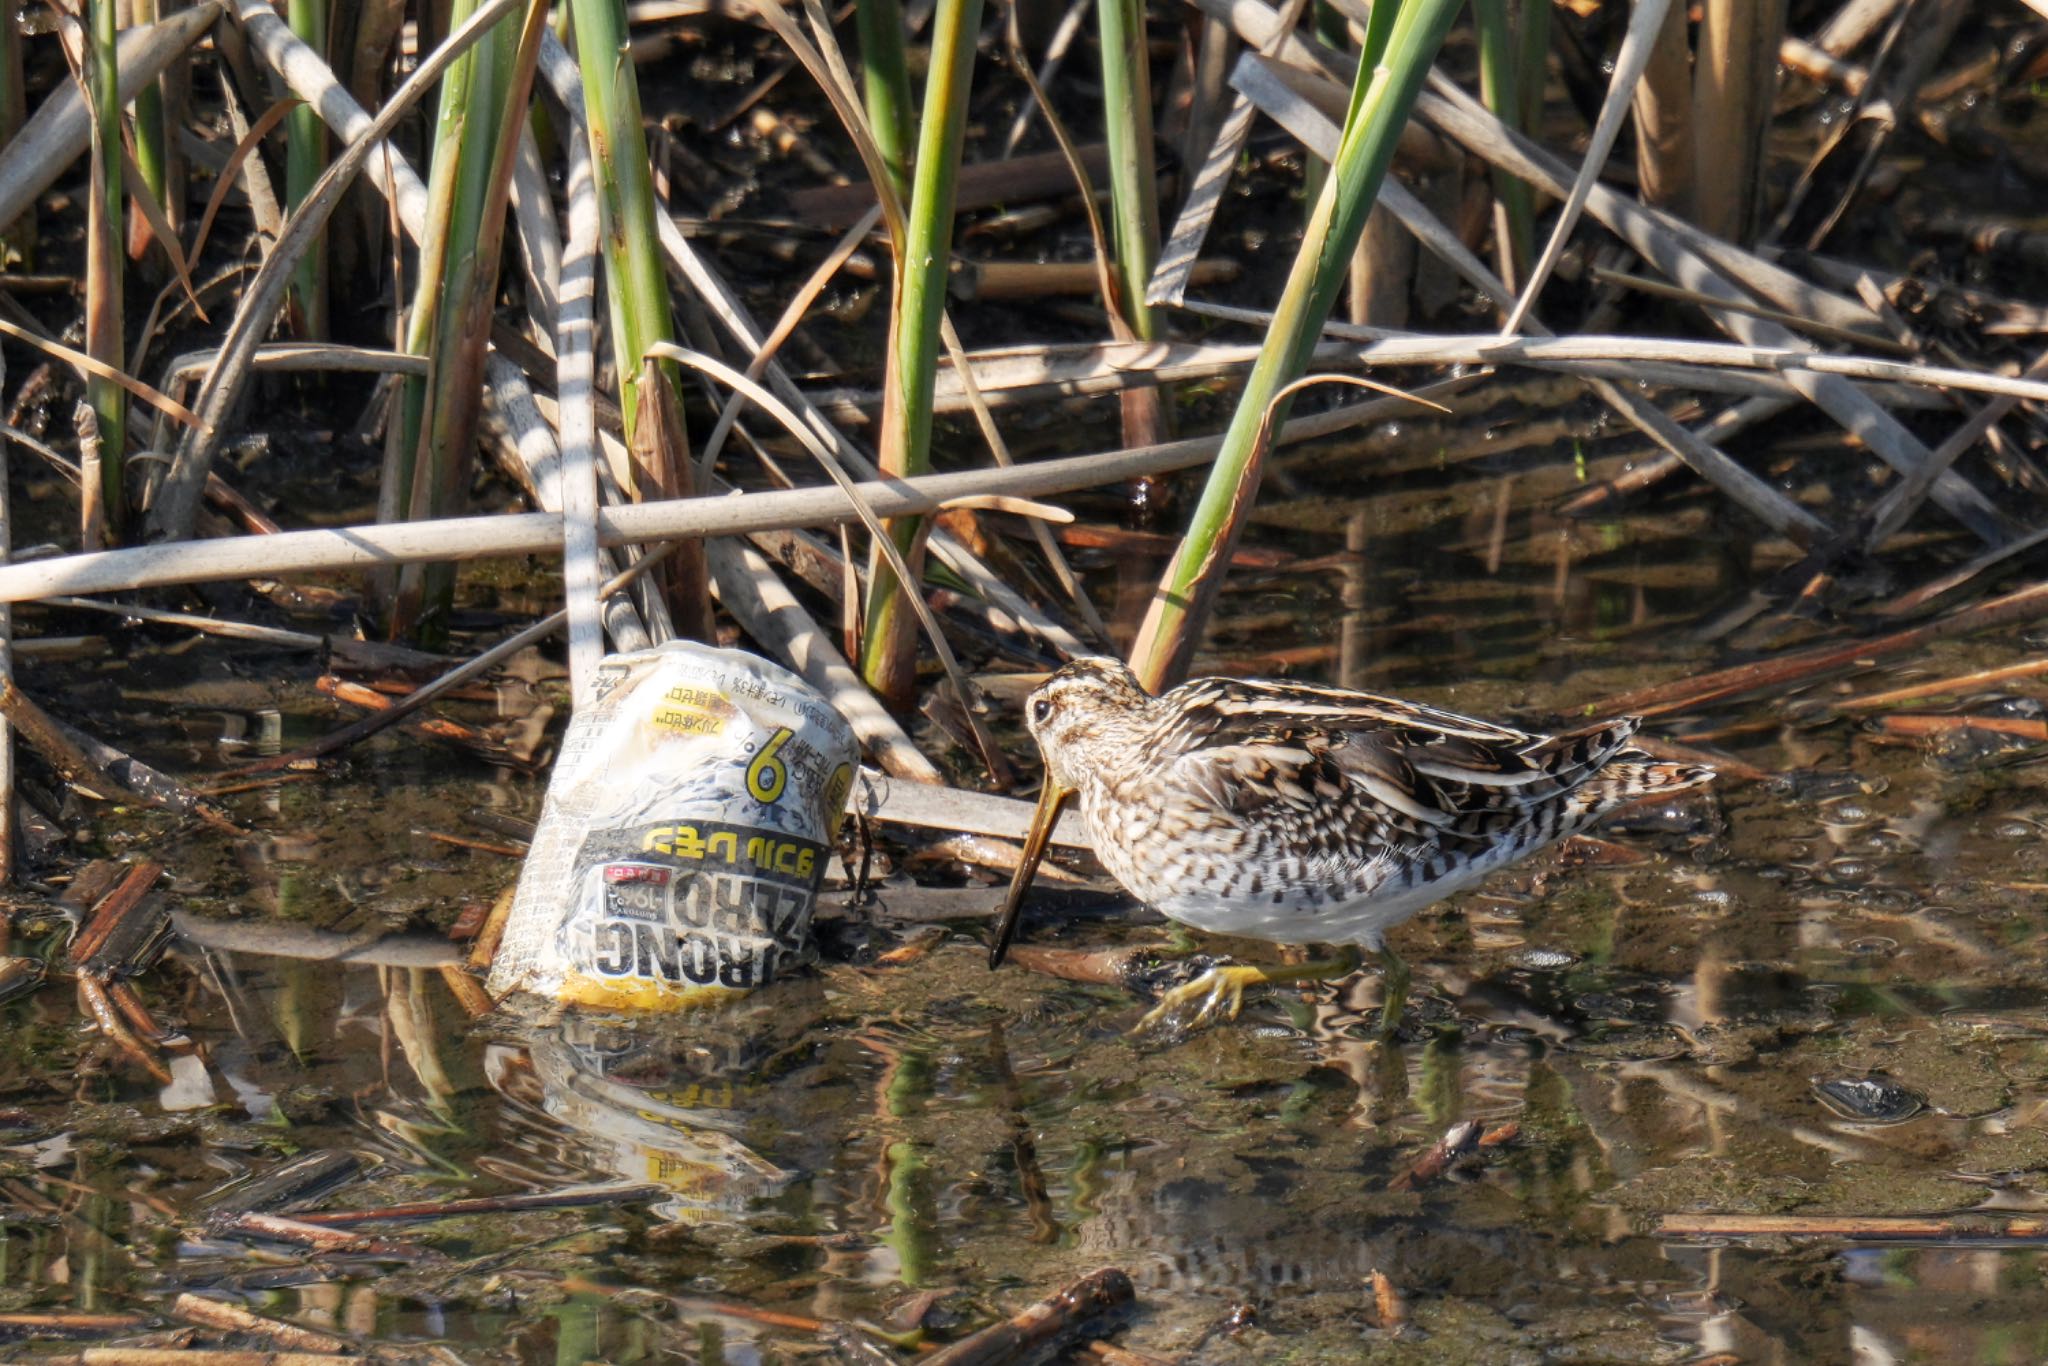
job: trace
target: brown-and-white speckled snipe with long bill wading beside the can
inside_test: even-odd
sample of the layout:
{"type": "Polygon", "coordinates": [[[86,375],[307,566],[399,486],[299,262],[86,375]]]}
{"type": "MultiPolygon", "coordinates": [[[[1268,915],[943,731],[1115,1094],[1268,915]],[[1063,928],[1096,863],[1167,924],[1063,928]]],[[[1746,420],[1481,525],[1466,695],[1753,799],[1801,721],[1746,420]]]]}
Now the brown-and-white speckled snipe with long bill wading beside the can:
{"type": "Polygon", "coordinates": [[[991,965],[1067,797],[1096,856],[1161,913],[1214,934],[1339,944],[1288,969],[1219,967],[1165,993],[1145,1024],[1235,1016],[1245,987],[1341,977],[1358,948],[1386,975],[1393,1034],[1407,967],[1389,928],[1487,872],[1712,768],[1628,743],[1632,717],[1534,735],[1419,702],[1282,682],[1202,678],[1151,696],[1116,659],[1075,659],[1024,702],[1044,791],[991,965]]]}

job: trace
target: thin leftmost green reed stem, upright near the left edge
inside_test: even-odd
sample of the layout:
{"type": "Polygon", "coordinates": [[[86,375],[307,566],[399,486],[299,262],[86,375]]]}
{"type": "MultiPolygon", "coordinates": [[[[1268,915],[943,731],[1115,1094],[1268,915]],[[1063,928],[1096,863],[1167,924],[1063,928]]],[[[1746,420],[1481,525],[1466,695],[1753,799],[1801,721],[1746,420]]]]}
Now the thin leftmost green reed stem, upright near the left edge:
{"type": "MultiPolygon", "coordinates": [[[[86,94],[92,102],[92,190],[86,209],[86,352],[119,369],[121,340],[121,94],[115,0],[86,0],[86,94]]],[[[80,489],[86,549],[117,541],[127,520],[127,391],[86,381],[98,428],[98,479],[80,489]]]]}

